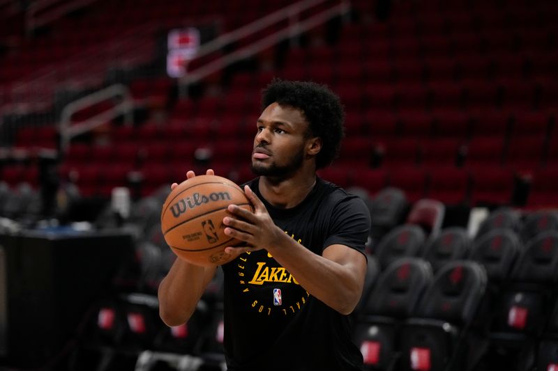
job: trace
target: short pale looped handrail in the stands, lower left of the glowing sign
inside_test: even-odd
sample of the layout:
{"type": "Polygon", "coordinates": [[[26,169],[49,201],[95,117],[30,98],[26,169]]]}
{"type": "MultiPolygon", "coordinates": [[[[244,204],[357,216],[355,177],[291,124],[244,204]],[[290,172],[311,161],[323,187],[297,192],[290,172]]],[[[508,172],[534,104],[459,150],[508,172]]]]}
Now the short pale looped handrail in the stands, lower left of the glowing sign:
{"type": "Polygon", "coordinates": [[[133,98],[130,95],[130,90],[122,84],[109,86],[108,88],[71,102],[64,107],[61,113],[59,124],[61,150],[66,150],[68,144],[75,136],[89,132],[121,114],[124,115],[124,123],[126,125],[132,124],[133,108],[134,104],[133,98]],[[121,101],[112,106],[111,109],[107,109],[107,111],[98,113],[96,116],[84,120],[82,123],[71,125],[74,113],[89,106],[93,106],[94,104],[104,102],[105,100],[110,100],[111,98],[120,98],[121,101]]]}

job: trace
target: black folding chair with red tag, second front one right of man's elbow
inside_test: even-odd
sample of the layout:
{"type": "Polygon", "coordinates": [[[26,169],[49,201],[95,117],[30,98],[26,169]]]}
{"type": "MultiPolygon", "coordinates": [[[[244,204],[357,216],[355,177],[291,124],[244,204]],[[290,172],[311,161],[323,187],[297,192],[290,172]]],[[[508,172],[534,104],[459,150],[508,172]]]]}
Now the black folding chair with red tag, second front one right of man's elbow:
{"type": "Polygon", "coordinates": [[[476,262],[444,265],[402,326],[398,370],[465,370],[477,346],[478,333],[471,324],[486,282],[486,272],[476,262]]]}

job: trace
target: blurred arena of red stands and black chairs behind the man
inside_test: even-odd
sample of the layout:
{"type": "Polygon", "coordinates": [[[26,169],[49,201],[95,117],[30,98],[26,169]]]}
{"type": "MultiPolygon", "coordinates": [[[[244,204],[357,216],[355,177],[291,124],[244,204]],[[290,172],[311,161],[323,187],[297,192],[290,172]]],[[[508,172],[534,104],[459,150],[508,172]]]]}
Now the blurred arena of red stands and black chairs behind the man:
{"type": "Polygon", "coordinates": [[[250,180],[280,77],[347,111],[319,173],[372,216],[366,369],[558,370],[556,19],[552,0],[0,0],[0,369],[226,370],[220,274],[187,324],[158,317],[160,207],[188,169],[250,180]]]}

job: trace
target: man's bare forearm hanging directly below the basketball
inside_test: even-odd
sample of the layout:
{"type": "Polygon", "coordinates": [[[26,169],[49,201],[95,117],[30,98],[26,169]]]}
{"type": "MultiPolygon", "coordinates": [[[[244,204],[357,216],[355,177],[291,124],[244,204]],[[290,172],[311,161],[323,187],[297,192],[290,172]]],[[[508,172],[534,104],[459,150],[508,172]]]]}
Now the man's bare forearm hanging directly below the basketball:
{"type": "Polygon", "coordinates": [[[158,290],[159,315],[168,326],[190,319],[215,267],[199,267],[176,259],[158,290]]]}

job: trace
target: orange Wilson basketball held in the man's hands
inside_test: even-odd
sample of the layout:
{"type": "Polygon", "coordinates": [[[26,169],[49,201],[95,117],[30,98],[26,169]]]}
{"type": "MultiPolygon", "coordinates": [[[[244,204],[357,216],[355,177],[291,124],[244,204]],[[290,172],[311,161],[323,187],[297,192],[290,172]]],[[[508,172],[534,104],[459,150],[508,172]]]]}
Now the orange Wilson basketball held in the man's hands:
{"type": "Polygon", "coordinates": [[[225,177],[199,175],[181,182],[161,211],[165,241],[179,258],[195,265],[229,262],[232,255],[225,253],[225,247],[241,243],[224,232],[230,204],[252,210],[244,191],[225,177]]]}

